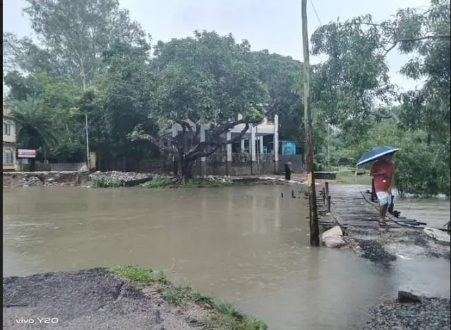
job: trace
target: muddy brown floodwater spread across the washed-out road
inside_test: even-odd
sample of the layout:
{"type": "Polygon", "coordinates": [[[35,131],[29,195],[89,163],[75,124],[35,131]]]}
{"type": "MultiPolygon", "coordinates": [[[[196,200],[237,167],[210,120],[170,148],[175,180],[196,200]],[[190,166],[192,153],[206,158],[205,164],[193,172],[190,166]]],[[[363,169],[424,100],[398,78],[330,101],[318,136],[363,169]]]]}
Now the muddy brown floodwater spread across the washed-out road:
{"type": "MultiPolygon", "coordinates": [[[[231,300],[270,329],[361,329],[406,274],[309,247],[307,203],[291,188],[3,188],[3,277],[137,264],[231,300]]],[[[430,276],[412,283],[449,295],[449,278],[430,276]]]]}

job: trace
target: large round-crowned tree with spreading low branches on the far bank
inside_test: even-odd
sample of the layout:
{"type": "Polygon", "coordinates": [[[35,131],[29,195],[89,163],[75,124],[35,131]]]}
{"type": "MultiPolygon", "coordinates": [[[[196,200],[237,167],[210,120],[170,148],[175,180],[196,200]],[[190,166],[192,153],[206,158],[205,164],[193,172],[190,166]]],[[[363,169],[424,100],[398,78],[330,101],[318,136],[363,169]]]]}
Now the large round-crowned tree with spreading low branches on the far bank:
{"type": "Polygon", "coordinates": [[[147,137],[178,155],[179,175],[191,177],[193,162],[211,155],[231,140],[224,133],[244,124],[240,139],[249,124],[262,120],[267,90],[258,77],[247,41],[237,43],[233,35],[195,31],[194,37],[158,42],[152,60],[154,72],[151,117],[160,128],[173,124],[181,130],[176,137],[165,137],[166,144],[138,127],[133,137],[147,137]],[[242,117],[238,117],[241,115],[242,117]],[[209,128],[205,142],[200,141],[202,126],[209,128]],[[185,139],[191,139],[186,148],[185,139]]]}

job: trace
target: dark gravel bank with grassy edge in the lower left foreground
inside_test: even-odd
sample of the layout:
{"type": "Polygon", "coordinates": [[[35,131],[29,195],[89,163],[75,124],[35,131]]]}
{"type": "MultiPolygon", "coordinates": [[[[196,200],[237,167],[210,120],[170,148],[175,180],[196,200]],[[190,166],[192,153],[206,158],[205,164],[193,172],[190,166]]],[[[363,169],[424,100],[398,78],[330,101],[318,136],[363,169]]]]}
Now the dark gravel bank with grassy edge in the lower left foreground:
{"type": "Polygon", "coordinates": [[[213,330],[206,325],[227,317],[242,325],[237,329],[259,330],[260,323],[238,310],[224,316],[200,293],[160,275],[151,283],[146,270],[127,269],[132,280],[103,268],[3,278],[3,329],[213,330]]]}

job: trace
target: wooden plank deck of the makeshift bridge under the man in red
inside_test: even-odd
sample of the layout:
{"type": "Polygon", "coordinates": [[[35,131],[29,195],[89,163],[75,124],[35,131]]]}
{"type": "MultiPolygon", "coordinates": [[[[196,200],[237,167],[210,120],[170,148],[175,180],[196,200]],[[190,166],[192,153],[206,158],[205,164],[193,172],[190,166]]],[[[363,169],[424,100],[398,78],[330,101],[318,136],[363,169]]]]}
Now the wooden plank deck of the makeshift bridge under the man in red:
{"type": "MultiPolygon", "coordinates": [[[[378,228],[378,203],[372,202],[371,192],[362,186],[331,185],[326,182],[317,196],[321,226],[340,225],[347,227],[378,228]]],[[[396,217],[396,212],[387,212],[389,228],[407,227],[424,229],[427,225],[414,219],[396,217]]]]}

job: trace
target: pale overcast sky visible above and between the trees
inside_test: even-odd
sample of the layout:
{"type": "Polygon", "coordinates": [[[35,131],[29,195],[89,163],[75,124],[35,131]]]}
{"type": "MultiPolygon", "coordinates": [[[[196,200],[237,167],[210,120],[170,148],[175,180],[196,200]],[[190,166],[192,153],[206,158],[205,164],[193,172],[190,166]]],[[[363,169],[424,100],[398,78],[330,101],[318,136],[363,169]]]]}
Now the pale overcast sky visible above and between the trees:
{"type": "MultiPolygon", "coordinates": [[[[77,1],[77,0],[74,0],[77,1]]],[[[253,50],[268,49],[302,60],[300,0],[119,0],[130,10],[131,18],[140,22],[153,41],[187,37],[193,30],[232,32],[247,39],[253,50]]],[[[390,18],[399,8],[428,6],[429,0],[312,0],[308,1],[309,34],[321,23],[372,14],[374,21],[390,18]],[[318,18],[313,10],[314,4],[318,18]]],[[[21,14],[22,0],[3,0],[3,31],[19,37],[32,37],[28,19],[21,14]]],[[[392,82],[403,89],[416,83],[397,72],[407,57],[392,51],[389,55],[392,82]]],[[[312,63],[320,61],[311,58],[312,63]]]]}

